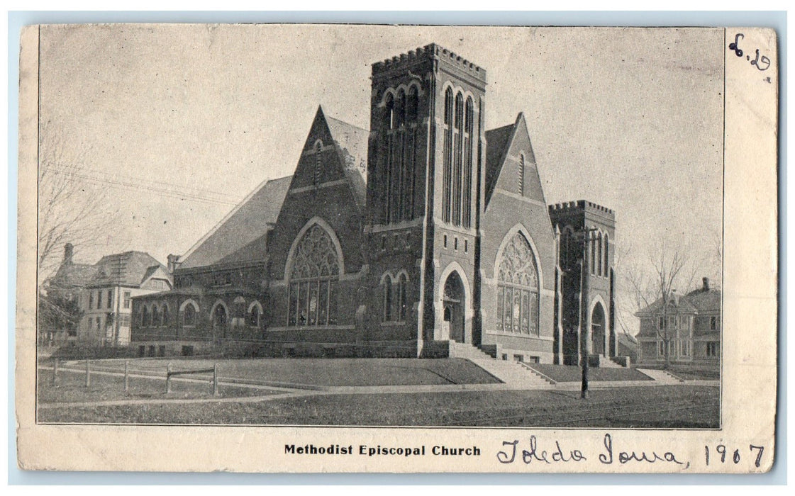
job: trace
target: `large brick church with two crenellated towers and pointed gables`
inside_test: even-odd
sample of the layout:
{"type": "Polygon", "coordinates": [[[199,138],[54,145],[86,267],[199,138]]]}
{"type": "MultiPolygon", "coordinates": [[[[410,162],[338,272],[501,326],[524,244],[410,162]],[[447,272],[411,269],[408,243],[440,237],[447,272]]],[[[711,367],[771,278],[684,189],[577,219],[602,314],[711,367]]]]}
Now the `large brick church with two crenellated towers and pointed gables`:
{"type": "Polygon", "coordinates": [[[545,202],[523,114],[438,45],[372,65],[370,130],[318,108],[266,181],[134,298],[140,355],[614,357],[615,215],[545,202]]]}

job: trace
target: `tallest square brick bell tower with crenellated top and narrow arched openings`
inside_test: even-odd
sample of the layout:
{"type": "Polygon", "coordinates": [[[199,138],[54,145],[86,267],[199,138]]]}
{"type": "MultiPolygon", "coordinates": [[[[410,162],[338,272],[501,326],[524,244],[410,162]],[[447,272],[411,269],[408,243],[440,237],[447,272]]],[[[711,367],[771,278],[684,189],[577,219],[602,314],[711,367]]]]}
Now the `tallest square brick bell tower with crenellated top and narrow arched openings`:
{"type": "Polygon", "coordinates": [[[371,79],[371,269],[415,273],[420,351],[423,342],[477,343],[486,71],[432,44],[373,64],[371,79]],[[401,250],[389,249],[392,240],[401,250]],[[444,305],[445,284],[460,289],[454,308],[444,305]]]}

